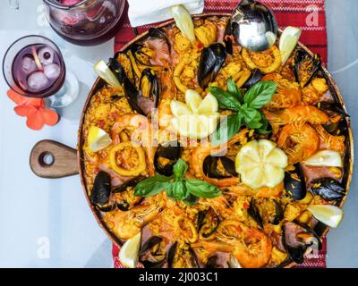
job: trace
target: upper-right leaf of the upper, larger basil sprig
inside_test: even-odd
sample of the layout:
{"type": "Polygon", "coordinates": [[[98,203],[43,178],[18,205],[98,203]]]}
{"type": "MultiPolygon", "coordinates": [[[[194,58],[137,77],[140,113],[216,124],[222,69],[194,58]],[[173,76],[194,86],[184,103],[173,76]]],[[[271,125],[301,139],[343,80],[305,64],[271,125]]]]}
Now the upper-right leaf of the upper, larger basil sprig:
{"type": "Polygon", "coordinates": [[[260,81],[245,93],[243,102],[252,108],[260,109],[271,101],[276,88],[277,83],[274,81],[260,81]]]}

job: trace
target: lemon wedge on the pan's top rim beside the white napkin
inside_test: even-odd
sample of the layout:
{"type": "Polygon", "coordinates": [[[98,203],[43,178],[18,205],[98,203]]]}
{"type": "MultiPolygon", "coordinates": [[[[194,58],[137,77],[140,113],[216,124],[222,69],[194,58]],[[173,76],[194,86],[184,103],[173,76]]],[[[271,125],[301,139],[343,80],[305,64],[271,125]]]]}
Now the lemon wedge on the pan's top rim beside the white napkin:
{"type": "Polygon", "coordinates": [[[183,35],[193,42],[195,40],[194,24],[192,23],[192,16],[188,10],[186,10],[183,5],[175,5],[172,7],[172,15],[176,26],[183,35]]]}

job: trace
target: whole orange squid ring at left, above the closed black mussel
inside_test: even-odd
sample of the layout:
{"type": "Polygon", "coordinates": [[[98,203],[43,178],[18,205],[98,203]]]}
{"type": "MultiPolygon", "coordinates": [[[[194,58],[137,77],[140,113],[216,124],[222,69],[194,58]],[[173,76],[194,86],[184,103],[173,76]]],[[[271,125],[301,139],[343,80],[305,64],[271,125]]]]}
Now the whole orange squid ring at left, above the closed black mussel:
{"type": "Polygon", "coordinates": [[[144,154],[143,148],[140,146],[133,146],[132,143],[129,141],[115,145],[115,147],[113,147],[110,151],[109,161],[110,161],[112,169],[119,175],[125,176],[125,177],[137,176],[141,172],[144,172],[146,170],[145,154],[144,154]],[[132,168],[131,170],[124,169],[116,163],[116,159],[115,159],[116,153],[118,151],[124,150],[125,147],[134,148],[138,154],[138,158],[139,158],[138,165],[136,167],[132,168]]]}

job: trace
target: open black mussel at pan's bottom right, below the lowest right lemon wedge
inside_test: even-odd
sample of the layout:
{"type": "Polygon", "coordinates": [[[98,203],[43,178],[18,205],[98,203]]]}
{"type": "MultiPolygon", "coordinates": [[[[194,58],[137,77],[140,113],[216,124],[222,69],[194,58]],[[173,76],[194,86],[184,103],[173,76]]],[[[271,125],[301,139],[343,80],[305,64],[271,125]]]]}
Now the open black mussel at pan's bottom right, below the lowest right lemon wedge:
{"type": "Polygon", "coordinates": [[[284,223],[283,243],[288,255],[298,264],[303,263],[307,248],[321,248],[320,237],[307,225],[298,222],[284,223]]]}

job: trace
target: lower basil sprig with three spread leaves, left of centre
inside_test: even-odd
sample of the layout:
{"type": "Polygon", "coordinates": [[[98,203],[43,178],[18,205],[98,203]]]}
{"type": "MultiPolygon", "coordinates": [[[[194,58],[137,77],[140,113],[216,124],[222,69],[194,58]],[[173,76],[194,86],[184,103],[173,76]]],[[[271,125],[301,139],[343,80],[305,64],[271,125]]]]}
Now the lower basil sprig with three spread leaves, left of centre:
{"type": "Polygon", "coordinates": [[[221,195],[217,186],[207,181],[184,178],[188,165],[179,159],[173,167],[173,175],[166,177],[160,174],[141,181],[134,189],[137,197],[150,197],[161,191],[166,191],[166,196],[174,200],[181,200],[187,205],[193,205],[198,198],[215,198],[221,195]]]}

